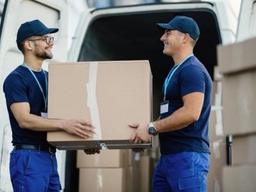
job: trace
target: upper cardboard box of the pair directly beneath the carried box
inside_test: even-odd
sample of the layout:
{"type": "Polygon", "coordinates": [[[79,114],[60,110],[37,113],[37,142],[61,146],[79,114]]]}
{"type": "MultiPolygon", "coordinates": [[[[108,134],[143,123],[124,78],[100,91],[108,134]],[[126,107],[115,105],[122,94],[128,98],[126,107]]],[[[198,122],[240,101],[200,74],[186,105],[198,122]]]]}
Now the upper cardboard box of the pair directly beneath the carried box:
{"type": "Polygon", "coordinates": [[[126,150],[100,150],[100,154],[88,156],[77,150],[77,168],[121,168],[124,167],[126,150]]]}

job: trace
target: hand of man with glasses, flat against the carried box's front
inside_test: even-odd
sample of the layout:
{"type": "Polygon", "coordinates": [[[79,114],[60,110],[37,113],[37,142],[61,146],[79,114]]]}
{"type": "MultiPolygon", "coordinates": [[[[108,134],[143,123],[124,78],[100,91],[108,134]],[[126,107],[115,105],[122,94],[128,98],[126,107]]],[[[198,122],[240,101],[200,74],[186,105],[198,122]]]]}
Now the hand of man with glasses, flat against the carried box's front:
{"type": "Polygon", "coordinates": [[[94,127],[90,122],[79,119],[63,120],[62,129],[84,139],[90,138],[92,134],[95,134],[94,127]]]}

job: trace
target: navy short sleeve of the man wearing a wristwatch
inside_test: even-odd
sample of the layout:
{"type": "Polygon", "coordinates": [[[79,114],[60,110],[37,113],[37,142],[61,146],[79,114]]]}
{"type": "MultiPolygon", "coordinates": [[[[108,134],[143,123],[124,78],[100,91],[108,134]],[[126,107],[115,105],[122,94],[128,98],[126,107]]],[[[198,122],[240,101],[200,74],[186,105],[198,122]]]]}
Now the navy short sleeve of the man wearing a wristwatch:
{"type": "Polygon", "coordinates": [[[180,71],[180,91],[182,97],[193,92],[205,93],[206,76],[204,70],[195,65],[188,65],[180,71]]]}

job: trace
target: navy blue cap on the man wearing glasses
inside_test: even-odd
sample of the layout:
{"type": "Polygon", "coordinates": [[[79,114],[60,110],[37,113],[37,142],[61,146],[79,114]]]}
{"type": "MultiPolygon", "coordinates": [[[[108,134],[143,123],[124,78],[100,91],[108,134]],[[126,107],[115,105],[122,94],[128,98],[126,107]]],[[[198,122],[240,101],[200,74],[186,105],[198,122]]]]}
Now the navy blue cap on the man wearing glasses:
{"type": "Polygon", "coordinates": [[[24,24],[20,25],[20,28],[17,33],[17,44],[24,41],[29,36],[36,35],[45,35],[48,33],[56,33],[58,32],[58,28],[47,28],[40,20],[31,20],[28,22],[24,22],[24,24]]]}

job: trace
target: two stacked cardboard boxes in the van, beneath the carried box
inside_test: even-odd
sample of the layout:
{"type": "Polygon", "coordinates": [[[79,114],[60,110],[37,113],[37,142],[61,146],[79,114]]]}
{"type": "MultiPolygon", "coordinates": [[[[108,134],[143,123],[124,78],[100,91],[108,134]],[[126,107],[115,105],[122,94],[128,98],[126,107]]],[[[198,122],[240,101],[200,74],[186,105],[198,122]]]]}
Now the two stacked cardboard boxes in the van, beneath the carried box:
{"type": "Polygon", "coordinates": [[[79,191],[125,191],[124,150],[100,150],[86,155],[77,150],[79,191]]]}

